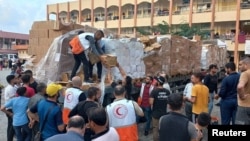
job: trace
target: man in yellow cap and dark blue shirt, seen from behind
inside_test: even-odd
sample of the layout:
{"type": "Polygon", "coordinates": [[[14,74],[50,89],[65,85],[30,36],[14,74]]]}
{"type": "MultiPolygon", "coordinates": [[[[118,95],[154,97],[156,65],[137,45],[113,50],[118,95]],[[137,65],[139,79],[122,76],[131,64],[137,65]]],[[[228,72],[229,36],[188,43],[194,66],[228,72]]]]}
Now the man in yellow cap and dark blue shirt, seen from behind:
{"type": "Polygon", "coordinates": [[[41,100],[35,106],[28,110],[29,117],[35,121],[39,121],[40,129],[44,124],[41,134],[41,140],[45,140],[51,136],[59,134],[64,131],[65,125],[62,120],[61,108],[57,105],[56,101],[59,91],[62,89],[61,85],[51,83],[46,88],[47,99],[41,100]],[[37,118],[37,115],[39,119],[37,118]],[[47,119],[45,121],[46,115],[47,119]]]}

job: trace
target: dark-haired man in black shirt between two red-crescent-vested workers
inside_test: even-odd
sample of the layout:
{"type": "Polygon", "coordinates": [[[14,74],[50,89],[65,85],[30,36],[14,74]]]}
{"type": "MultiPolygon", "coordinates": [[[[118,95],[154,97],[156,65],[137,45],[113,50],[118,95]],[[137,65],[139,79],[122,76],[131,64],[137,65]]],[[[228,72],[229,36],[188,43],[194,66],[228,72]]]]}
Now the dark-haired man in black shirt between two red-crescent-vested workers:
{"type": "Polygon", "coordinates": [[[101,90],[97,87],[90,87],[87,92],[87,99],[78,103],[69,113],[69,118],[80,115],[86,122],[84,141],[91,141],[91,136],[94,135],[94,132],[89,127],[88,113],[92,107],[100,107],[98,103],[100,97],[101,90]]]}

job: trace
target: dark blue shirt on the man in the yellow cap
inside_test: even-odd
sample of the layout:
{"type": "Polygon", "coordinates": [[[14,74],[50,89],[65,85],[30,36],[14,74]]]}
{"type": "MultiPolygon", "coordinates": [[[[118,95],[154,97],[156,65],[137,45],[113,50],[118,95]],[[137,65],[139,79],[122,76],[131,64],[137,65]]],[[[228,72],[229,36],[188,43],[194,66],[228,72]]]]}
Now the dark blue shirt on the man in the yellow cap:
{"type": "Polygon", "coordinates": [[[41,100],[35,106],[31,107],[30,111],[32,113],[38,113],[40,121],[40,129],[45,120],[45,116],[49,111],[50,107],[54,106],[50,111],[47,121],[45,121],[45,126],[42,131],[42,139],[45,140],[61,132],[58,130],[58,126],[63,124],[62,111],[56,102],[49,100],[41,100]]]}

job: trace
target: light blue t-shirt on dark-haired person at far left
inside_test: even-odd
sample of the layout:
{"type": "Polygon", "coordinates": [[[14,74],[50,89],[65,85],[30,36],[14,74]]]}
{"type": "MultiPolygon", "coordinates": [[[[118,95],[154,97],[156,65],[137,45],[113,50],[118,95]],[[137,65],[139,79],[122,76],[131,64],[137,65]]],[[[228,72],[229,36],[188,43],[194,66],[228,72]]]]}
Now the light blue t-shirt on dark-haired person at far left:
{"type": "Polygon", "coordinates": [[[13,126],[21,126],[29,122],[26,111],[28,109],[29,98],[24,96],[14,97],[5,103],[4,107],[12,107],[13,126]]]}

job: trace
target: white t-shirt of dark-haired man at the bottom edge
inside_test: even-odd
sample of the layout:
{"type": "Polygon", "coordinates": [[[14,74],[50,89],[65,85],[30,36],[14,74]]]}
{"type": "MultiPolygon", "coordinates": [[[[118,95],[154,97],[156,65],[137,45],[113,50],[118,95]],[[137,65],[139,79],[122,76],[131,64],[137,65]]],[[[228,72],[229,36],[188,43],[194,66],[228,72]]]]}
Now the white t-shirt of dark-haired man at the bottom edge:
{"type": "Polygon", "coordinates": [[[92,141],[119,141],[120,137],[113,127],[109,127],[109,130],[106,133],[101,133],[100,135],[95,135],[95,138],[92,141]]]}

